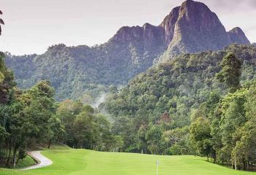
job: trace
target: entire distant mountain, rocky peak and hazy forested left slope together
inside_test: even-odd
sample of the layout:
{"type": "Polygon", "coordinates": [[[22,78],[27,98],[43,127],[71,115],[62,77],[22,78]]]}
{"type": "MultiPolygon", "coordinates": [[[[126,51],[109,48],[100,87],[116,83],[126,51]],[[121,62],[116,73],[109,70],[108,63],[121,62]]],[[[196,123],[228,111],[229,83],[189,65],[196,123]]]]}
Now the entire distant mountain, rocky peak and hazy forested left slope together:
{"type": "Polygon", "coordinates": [[[20,88],[49,79],[57,100],[76,99],[83,93],[104,92],[105,86],[127,84],[161,55],[170,58],[181,52],[219,50],[233,42],[249,44],[240,28],[226,32],[205,4],[188,0],[171,10],[159,26],[124,26],[105,44],[57,44],[42,55],[7,54],[6,61],[20,88]]]}

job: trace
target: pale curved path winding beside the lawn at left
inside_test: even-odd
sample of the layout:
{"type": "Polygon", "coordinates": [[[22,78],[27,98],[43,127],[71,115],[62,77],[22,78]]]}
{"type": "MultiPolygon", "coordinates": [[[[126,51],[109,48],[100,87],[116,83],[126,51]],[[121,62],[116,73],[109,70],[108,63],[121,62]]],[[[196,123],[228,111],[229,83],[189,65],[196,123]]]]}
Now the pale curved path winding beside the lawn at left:
{"type": "Polygon", "coordinates": [[[42,168],[42,167],[50,166],[51,164],[53,164],[52,160],[45,158],[45,156],[41,155],[41,151],[28,152],[28,155],[31,156],[31,158],[34,158],[34,160],[37,160],[37,164],[34,166],[23,168],[23,170],[42,168]]]}

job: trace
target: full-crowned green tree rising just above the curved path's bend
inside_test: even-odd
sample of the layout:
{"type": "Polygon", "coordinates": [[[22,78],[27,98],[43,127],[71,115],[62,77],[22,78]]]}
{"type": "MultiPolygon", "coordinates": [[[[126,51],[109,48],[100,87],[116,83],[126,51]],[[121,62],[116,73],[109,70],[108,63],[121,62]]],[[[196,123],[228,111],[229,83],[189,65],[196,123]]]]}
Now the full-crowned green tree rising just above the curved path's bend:
{"type": "Polygon", "coordinates": [[[23,101],[26,103],[23,112],[33,123],[33,135],[40,142],[50,139],[50,118],[55,112],[53,96],[54,89],[48,81],[38,82],[23,94],[23,101]]]}

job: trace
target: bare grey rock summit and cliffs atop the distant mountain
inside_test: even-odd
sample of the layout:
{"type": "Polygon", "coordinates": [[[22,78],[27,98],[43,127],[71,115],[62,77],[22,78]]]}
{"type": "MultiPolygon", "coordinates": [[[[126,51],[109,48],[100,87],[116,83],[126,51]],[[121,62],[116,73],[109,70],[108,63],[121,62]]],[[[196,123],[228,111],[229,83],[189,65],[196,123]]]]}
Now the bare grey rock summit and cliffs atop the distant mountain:
{"type": "Polygon", "coordinates": [[[146,23],[143,27],[123,27],[110,40],[138,41],[145,50],[162,51],[165,48],[164,55],[168,57],[181,52],[221,50],[233,43],[250,43],[241,28],[227,32],[206,4],[192,0],[175,7],[159,26],[146,23]]]}

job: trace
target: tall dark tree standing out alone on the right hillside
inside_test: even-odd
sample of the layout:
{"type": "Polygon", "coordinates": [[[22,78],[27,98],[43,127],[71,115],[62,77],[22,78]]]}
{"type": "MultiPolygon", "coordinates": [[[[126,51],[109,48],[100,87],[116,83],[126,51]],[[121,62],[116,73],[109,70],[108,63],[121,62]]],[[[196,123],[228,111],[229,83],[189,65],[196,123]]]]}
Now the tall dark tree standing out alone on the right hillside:
{"type": "Polygon", "coordinates": [[[235,92],[241,87],[241,61],[236,58],[233,52],[229,52],[222,58],[220,66],[222,70],[217,74],[217,79],[219,79],[220,82],[224,82],[230,92],[235,92]]]}

